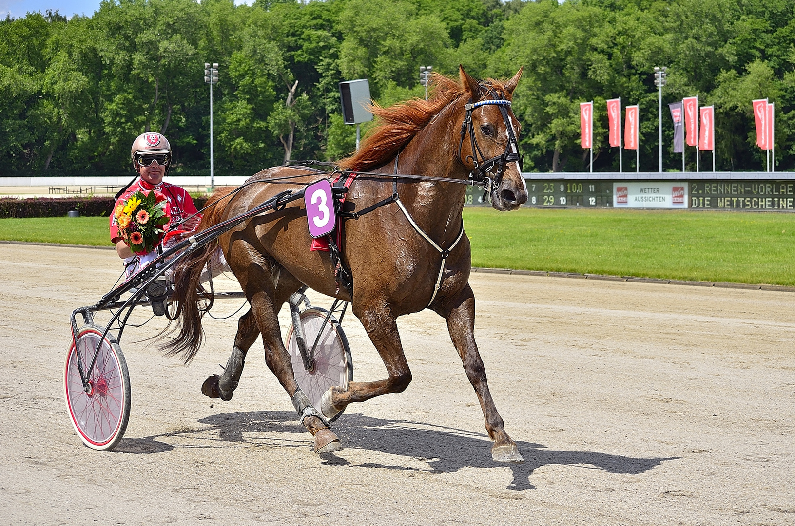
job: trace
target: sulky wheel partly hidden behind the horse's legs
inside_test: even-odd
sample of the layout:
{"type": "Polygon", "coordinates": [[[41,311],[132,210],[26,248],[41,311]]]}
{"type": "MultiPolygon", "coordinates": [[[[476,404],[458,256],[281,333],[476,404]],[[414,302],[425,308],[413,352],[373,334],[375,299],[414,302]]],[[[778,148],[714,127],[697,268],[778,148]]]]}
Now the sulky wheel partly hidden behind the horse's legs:
{"type": "MultiPolygon", "coordinates": [[[[304,329],[307,350],[310,352],[327,315],[328,311],[320,307],[310,307],[301,312],[301,327],[304,329]]],[[[342,389],[347,389],[348,381],[353,380],[351,347],[348,346],[343,328],[333,316],[323,327],[323,335],[320,336],[315,349],[315,367],[311,371],[304,368],[292,323],[287,331],[287,342],[296,381],[318,410],[320,410],[320,399],[329,388],[339,385],[342,389]]],[[[342,414],[343,412],[340,411],[329,421],[333,422],[342,414]]]]}

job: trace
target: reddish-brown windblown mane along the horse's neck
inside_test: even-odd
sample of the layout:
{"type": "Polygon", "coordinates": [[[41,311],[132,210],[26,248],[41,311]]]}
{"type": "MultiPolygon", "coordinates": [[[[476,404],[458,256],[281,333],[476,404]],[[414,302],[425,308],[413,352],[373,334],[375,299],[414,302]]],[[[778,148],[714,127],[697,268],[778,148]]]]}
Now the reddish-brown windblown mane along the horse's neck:
{"type": "MultiPolygon", "coordinates": [[[[371,170],[394,159],[398,152],[425,128],[431,119],[450,102],[468,93],[463,82],[444,75],[432,75],[431,95],[428,100],[412,99],[382,108],[373,103],[370,111],[378,118],[378,125],[367,133],[359,151],[339,161],[340,168],[347,170],[371,170]]],[[[483,91],[501,90],[501,82],[487,79],[481,86],[483,91]]]]}

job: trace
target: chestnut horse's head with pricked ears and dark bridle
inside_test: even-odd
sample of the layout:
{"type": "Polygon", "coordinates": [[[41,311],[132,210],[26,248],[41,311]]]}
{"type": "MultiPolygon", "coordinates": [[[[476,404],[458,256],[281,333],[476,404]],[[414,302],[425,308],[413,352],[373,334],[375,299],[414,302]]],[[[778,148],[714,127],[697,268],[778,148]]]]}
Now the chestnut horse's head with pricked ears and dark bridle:
{"type": "Polygon", "coordinates": [[[506,83],[478,81],[463,71],[460,79],[469,102],[461,125],[460,161],[477,180],[491,185],[491,206],[516,210],[527,202],[518,152],[521,126],[510,108],[522,69],[506,83]]]}

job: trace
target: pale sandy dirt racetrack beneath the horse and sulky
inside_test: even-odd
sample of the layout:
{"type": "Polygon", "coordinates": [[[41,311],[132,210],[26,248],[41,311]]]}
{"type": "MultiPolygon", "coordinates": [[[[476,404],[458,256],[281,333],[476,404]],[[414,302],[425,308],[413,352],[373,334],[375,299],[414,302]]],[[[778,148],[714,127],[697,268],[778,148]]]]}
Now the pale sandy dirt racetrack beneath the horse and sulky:
{"type": "MultiPolygon", "coordinates": [[[[518,465],[491,461],[432,312],[398,320],[409,389],[351,405],[324,458],[261,342],[233,400],[201,395],[237,316],[206,324],[189,367],[136,343],[157,319],[122,340],[130,425],[100,453],[69,423],[62,369],[69,313],[120,270],[107,250],[0,245],[0,524],[795,524],[791,292],[473,274],[518,465]]],[[[355,378],[385,377],[358,320],[343,325],[355,378]]]]}

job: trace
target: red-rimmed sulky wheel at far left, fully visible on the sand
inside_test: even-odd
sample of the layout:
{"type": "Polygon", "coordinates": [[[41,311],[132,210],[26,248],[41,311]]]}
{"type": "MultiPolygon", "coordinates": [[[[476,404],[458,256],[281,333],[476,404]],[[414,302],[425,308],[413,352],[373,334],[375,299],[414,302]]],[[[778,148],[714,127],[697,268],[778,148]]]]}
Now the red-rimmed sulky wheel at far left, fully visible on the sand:
{"type": "Polygon", "coordinates": [[[111,451],[121,441],[130,419],[130,374],[121,347],[111,335],[102,338],[103,327],[85,325],[77,331],[77,348],[72,342],[64,367],[64,394],[69,419],[83,443],[99,451],[111,451]],[[85,369],[91,365],[89,391],[83,389],[77,353],[85,369]]]}

